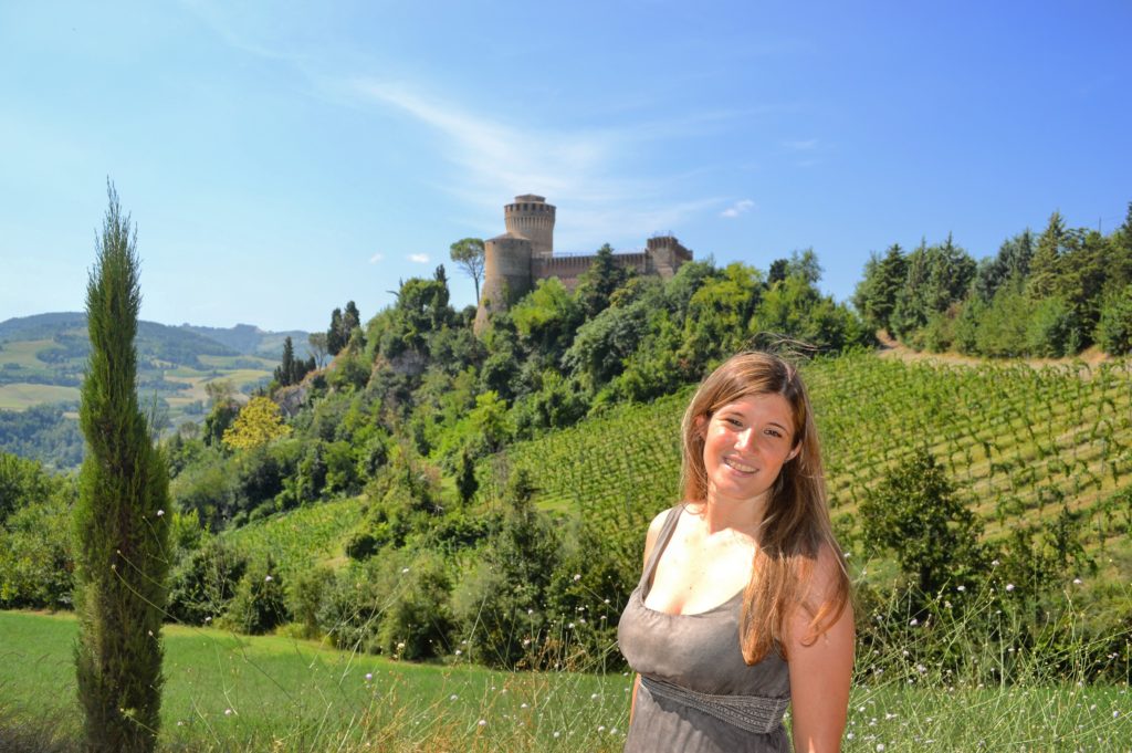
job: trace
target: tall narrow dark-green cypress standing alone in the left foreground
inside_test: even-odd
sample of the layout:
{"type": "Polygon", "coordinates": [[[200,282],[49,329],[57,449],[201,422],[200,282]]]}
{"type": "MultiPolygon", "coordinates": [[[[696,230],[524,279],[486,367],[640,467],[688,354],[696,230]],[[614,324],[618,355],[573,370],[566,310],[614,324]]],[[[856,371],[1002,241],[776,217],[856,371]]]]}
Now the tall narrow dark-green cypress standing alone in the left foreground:
{"type": "Polygon", "coordinates": [[[86,750],[153,751],[161,726],[169,477],[138,405],[142,293],[136,230],[109,208],[86,291],[91,360],[79,425],[87,455],[75,508],[75,648],[86,750]]]}

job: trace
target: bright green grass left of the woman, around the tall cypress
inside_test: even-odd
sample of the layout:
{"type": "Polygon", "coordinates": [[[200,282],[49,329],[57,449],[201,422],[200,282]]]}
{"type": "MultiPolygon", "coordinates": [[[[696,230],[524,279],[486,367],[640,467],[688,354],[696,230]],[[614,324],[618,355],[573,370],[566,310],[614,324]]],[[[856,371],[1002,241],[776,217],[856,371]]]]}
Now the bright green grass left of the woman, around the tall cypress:
{"type": "MultiPolygon", "coordinates": [[[[74,618],[0,613],[0,718],[59,720],[76,736],[74,618]]],[[[624,744],[625,675],[412,665],[181,626],[165,627],[164,644],[165,748],[617,751],[624,744]]]]}

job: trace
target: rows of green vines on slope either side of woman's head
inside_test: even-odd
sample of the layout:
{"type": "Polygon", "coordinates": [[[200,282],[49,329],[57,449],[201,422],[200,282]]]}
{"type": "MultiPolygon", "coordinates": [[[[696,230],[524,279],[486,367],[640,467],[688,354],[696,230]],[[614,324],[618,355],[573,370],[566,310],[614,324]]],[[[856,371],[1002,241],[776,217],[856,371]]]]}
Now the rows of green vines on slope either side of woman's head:
{"type": "MultiPolygon", "coordinates": [[[[1091,546],[1132,522],[1132,374],[1127,361],[946,366],[856,353],[804,367],[822,436],[835,522],[852,530],[867,490],[928,447],[987,536],[1018,521],[1088,516],[1091,546]]],[[[638,556],[648,521],[678,495],[679,420],[689,391],[518,443],[484,463],[481,496],[525,468],[546,507],[600,522],[638,556]]]]}

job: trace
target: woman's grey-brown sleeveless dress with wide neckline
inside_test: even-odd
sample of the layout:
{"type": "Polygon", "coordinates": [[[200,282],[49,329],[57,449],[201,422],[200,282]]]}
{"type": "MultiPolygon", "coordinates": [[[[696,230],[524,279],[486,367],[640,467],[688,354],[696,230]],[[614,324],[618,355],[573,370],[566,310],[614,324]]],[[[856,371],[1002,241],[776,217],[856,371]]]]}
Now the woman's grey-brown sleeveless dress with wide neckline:
{"type": "MultiPolygon", "coordinates": [[[[709,611],[669,615],[644,606],[661,553],[672,538],[684,506],[674,507],[660,530],[641,583],[629,596],[617,627],[621,653],[642,676],[713,696],[755,695],[784,703],[790,696],[787,664],[775,653],[748,666],[739,648],[743,591],[709,611]]],[[[753,733],[644,684],[625,742],[626,753],[789,753],[779,722],[753,733]]]]}

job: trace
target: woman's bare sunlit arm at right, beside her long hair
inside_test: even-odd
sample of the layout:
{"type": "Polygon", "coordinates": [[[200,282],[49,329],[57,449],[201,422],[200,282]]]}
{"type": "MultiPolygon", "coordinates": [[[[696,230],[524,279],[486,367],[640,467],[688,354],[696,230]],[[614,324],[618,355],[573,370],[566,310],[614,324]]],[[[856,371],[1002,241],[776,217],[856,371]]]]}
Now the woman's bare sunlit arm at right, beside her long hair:
{"type": "MultiPolygon", "coordinates": [[[[840,568],[837,558],[825,551],[818,556],[812,590],[821,601],[840,568]]],[[[790,669],[790,713],[794,750],[797,753],[825,753],[841,750],[849,710],[849,681],[852,676],[852,606],[846,605],[830,628],[806,645],[809,614],[796,608],[787,624],[787,659],[790,669]]]]}

